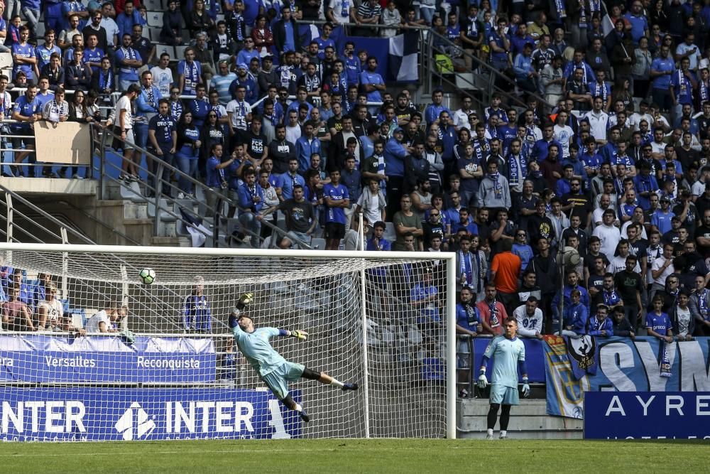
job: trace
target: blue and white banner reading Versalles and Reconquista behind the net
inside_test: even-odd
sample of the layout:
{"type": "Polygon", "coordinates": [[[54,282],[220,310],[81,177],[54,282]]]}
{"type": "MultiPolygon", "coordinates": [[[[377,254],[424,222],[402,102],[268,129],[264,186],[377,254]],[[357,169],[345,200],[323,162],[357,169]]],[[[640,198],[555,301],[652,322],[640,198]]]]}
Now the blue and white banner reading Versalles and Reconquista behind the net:
{"type": "Polygon", "coordinates": [[[212,339],[0,336],[0,382],[214,382],[212,339]]]}

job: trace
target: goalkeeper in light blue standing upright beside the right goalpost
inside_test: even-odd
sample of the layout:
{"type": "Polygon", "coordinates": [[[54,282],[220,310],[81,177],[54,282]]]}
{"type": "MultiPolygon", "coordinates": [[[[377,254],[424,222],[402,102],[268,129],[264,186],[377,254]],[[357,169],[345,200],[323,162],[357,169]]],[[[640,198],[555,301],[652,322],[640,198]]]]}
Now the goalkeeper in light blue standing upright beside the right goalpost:
{"type": "Polygon", "coordinates": [[[479,388],[484,389],[488,385],[486,379],[486,366],[488,360],[493,358],[493,374],[491,375],[491,408],[488,409],[488,430],[486,439],[493,439],[493,428],[496,427],[498,409],[501,411],[501,439],[508,438],[508,420],[510,419],[510,406],[520,402],[518,398],[518,367],[523,374],[523,397],[530,397],[530,385],[528,385],[528,368],[525,367],[525,345],[523,341],[515,337],[518,333],[518,321],[514,319],[506,320],[503,324],[506,330],[505,335],[496,336],[488,344],[481,360],[481,371],[479,375],[479,388]]]}

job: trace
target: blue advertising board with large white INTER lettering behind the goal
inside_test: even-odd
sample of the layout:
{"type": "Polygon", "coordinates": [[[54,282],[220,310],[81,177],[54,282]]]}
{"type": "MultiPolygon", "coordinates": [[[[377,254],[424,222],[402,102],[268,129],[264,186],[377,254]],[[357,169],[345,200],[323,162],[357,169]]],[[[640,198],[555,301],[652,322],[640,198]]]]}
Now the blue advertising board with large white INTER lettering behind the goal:
{"type": "Polygon", "coordinates": [[[300,417],[268,391],[5,387],[0,398],[0,441],[301,436],[300,417]]]}

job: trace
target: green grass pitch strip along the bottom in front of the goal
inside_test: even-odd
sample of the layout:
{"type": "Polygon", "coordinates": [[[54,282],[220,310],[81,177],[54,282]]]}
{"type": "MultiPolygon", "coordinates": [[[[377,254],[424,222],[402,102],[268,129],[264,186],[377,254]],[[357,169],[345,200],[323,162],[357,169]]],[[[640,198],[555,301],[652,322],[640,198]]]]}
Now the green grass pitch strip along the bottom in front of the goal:
{"type": "MultiPolygon", "coordinates": [[[[511,433],[512,434],[512,433],[511,433]]],[[[704,441],[306,439],[0,443],[3,473],[707,472],[704,441]],[[480,470],[480,471],[479,471],[480,470]]]]}

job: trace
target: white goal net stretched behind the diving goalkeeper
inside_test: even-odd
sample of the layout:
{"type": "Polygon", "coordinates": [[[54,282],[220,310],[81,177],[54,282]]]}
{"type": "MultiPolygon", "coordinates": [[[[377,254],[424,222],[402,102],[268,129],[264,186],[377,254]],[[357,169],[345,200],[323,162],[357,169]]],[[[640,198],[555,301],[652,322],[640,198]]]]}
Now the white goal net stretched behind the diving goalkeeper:
{"type": "Polygon", "coordinates": [[[452,436],[452,255],[0,244],[0,439],[452,436]],[[283,406],[229,329],[247,291],[256,328],[310,334],[286,360],[360,389],[283,406]]]}

